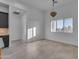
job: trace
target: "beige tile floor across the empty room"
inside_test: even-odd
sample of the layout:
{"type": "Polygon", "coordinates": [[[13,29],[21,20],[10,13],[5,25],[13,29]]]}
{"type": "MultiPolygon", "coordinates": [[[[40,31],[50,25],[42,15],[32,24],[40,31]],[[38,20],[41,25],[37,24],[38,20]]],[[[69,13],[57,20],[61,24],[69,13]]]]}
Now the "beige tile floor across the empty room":
{"type": "Polygon", "coordinates": [[[78,59],[77,47],[49,40],[15,42],[3,50],[3,59],[78,59]]]}

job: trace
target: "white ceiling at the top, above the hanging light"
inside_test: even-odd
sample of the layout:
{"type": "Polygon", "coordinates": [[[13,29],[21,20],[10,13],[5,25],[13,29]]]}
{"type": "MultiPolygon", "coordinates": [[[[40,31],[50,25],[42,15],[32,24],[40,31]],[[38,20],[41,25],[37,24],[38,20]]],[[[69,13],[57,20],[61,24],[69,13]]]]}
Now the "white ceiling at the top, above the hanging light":
{"type": "MultiPolygon", "coordinates": [[[[41,10],[48,10],[52,7],[52,0],[17,0],[23,4],[30,5],[41,10]]],[[[74,0],[56,0],[55,6],[62,6],[74,0]]]]}

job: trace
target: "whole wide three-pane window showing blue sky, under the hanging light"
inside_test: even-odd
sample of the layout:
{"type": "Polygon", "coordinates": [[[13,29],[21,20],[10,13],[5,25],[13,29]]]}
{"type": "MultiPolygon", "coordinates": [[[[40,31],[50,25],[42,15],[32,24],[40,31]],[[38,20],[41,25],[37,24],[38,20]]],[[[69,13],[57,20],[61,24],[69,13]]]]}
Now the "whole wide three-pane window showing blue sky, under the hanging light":
{"type": "Polygon", "coordinates": [[[51,21],[51,32],[73,32],[73,18],[64,18],[51,21]]]}

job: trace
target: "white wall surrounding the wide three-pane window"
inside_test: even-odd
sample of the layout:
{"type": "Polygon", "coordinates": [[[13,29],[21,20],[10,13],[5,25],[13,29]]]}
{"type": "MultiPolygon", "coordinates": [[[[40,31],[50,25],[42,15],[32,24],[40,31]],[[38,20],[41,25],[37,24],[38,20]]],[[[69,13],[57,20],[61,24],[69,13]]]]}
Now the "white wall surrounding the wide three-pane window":
{"type": "Polygon", "coordinates": [[[73,45],[77,45],[78,41],[78,17],[77,17],[77,0],[72,1],[65,6],[58,7],[56,11],[58,12],[55,18],[52,18],[49,15],[49,11],[46,12],[45,17],[45,38],[49,40],[69,43],[73,45]],[[50,32],[50,20],[61,19],[64,17],[73,17],[73,33],[51,33],[50,32]]]}

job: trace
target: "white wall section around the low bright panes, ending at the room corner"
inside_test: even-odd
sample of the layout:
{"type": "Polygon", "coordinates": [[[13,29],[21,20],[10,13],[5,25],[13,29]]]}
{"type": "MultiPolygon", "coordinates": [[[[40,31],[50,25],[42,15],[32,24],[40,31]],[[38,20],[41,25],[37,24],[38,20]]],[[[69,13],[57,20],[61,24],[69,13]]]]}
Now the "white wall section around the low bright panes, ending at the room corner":
{"type": "MultiPolygon", "coordinates": [[[[27,29],[36,27],[36,37],[29,40],[43,39],[43,12],[28,6],[27,29]]],[[[27,39],[28,40],[28,39],[27,39]]]]}

